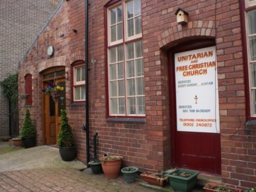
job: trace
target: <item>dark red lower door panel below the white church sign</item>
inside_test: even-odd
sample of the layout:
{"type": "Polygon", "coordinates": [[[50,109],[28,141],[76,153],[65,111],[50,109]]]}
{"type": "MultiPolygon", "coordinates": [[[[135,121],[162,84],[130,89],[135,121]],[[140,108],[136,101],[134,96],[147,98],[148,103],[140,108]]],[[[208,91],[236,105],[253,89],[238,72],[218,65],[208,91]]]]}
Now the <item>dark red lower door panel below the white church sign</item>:
{"type": "Polygon", "coordinates": [[[220,134],[176,133],[175,166],[220,174],[220,134]]]}

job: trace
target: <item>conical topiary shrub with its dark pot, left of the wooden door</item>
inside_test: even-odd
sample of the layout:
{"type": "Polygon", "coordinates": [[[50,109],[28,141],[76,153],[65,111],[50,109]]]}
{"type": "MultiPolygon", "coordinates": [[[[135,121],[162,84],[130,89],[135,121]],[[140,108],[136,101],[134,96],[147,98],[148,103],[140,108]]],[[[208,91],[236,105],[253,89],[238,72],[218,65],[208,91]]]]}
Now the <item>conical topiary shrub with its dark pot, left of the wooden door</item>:
{"type": "Polygon", "coordinates": [[[22,122],[22,127],[20,130],[20,134],[22,136],[21,140],[24,148],[35,147],[36,145],[36,128],[33,125],[29,109],[26,109],[25,117],[22,122]]]}

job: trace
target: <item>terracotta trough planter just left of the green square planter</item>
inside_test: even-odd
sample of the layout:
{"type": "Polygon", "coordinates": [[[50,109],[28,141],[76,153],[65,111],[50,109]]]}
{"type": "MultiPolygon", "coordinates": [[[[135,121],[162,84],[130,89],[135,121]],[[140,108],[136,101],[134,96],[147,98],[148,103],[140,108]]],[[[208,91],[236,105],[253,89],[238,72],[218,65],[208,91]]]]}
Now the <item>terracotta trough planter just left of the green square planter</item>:
{"type": "Polygon", "coordinates": [[[159,173],[154,173],[154,172],[144,172],[141,173],[140,176],[142,179],[147,182],[148,184],[152,184],[155,186],[165,186],[168,182],[168,177],[165,175],[161,175],[159,173]]]}

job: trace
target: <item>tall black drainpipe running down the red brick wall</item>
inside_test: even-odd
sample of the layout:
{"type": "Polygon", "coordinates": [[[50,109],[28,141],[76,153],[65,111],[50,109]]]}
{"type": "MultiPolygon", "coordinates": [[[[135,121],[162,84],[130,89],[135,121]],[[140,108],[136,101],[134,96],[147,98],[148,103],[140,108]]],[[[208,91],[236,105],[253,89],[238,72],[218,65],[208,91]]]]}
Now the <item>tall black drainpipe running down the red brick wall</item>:
{"type": "Polygon", "coordinates": [[[88,0],[85,1],[85,18],[84,18],[84,55],[85,55],[85,125],[83,125],[82,129],[86,132],[86,159],[87,164],[90,162],[90,142],[89,142],[89,56],[88,56],[88,0]]]}

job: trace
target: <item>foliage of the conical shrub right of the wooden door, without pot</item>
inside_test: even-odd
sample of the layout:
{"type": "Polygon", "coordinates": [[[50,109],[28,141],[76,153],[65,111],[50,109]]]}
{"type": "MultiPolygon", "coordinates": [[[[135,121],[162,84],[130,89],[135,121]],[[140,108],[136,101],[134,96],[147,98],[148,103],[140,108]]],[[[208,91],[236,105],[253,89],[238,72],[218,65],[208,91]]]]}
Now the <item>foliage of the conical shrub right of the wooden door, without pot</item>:
{"type": "Polygon", "coordinates": [[[75,145],[74,134],[68,123],[66,110],[61,109],[61,127],[58,134],[58,145],[61,147],[72,147],[75,145]]]}

